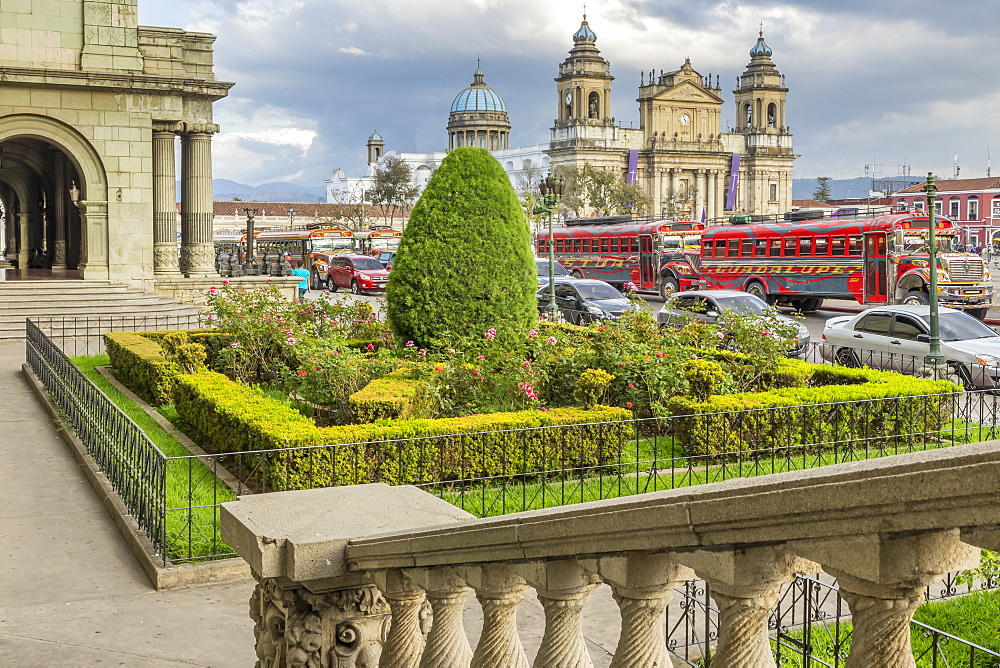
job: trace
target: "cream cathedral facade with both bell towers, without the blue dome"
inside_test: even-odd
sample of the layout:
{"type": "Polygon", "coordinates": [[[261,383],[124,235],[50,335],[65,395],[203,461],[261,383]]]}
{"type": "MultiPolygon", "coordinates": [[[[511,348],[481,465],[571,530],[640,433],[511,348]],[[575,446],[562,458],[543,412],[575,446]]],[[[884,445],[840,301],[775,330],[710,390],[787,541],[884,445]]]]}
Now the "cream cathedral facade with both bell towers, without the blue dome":
{"type": "Polygon", "coordinates": [[[556,77],[553,166],[589,164],[621,174],[652,202],[650,214],[695,219],[791,209],[792,135],[785,119],[788,89],[771,61],[763,32],[734,92],[736,127],[722,131],[719,78],[702,76],[686,59],[680,69],[644,72],[639,127],[611,117],[614,77],[584,16],[556,77]]]}

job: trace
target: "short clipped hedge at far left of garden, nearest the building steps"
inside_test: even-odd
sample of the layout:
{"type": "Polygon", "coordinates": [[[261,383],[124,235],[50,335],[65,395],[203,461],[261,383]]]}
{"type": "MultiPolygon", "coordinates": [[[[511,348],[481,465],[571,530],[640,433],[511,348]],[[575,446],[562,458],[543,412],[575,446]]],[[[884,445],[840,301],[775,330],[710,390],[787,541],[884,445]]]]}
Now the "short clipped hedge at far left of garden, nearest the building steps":
{"type": "Polygon", "coordinates": [[[145,333],[109,332],[104,335],[104,347],[125,385],[156,405],[170,402],[180,367],[167,359],[159,343],[145,333]]]}

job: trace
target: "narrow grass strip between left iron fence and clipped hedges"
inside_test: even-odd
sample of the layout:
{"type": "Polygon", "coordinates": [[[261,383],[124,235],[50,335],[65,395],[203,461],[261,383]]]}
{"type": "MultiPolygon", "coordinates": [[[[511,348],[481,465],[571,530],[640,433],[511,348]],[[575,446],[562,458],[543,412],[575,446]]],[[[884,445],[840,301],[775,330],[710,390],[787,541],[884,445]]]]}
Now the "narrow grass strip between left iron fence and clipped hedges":
{"type": "Polygon", "coordinates": [[[219,504],[236,495],[200,460],[164,430],[132,400],[119,392],[96,369],[107,366],[107,355],[74,357],[73,362],[104,394],[135,422],[167,457],[187,457],[167,462],[167,559],[188,560],[232,552],[219,537],[219,504]]]}

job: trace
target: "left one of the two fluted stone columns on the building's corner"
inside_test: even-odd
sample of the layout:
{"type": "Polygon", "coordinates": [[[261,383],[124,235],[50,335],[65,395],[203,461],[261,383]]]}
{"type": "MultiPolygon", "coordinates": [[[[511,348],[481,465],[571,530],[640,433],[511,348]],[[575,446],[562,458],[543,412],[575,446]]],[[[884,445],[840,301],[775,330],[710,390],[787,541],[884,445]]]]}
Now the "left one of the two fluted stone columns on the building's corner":
{"type": "Polygon", "coordinates": [[[180,275],[174,136],[173,130],[153,128],[153,273],[157,276],[180,275]]]}

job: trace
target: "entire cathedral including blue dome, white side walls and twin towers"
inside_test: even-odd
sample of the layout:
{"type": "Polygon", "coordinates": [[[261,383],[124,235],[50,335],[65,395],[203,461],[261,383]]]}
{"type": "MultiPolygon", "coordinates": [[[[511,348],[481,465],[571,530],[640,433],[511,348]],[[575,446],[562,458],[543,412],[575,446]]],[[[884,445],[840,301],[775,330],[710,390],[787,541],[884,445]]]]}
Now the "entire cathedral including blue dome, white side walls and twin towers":
{"type": "MultiPolygon", "coordinates": [[[[722,129],[719,77],[713,81],[712,75],[699,74],[690,59],[673,72],[642,73],[639,127],[626,128],[611,116],[611,64],[584,15],[555,78],[557,108],[548,144],[509,147],[506,105],[477,68],[472,85],[452,103],[448,148],[490,150],[519,192],[551,167],[589,164],[642,187],[652,202],[647,214],[709,220],[789,211],[797,156],[785,117],[788,89],[771,55],[761,31],[733,91],[735,128],[722,129]]],[[[367,177],[349,179],[334,170],[327,181],[328,200],[345,201],[346,190],[363,189],[389,155],[408,162],[422,188],[446,155],[385,153],[382,148],[380,136],[369,138],[367,177]]]]}

